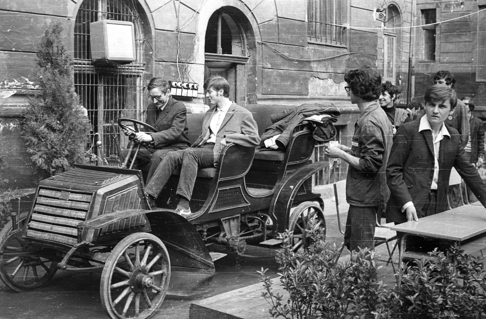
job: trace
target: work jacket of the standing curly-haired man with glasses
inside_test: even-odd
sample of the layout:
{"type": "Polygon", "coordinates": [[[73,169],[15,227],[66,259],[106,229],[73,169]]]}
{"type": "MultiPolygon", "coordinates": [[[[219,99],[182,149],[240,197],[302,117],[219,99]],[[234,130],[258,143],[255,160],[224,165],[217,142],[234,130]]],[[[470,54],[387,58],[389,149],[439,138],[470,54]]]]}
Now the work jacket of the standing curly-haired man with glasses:
{"type": "Polygon", "coordinates": [[[393,130],[386,113],[375,102],[354,125],[351,151],[360,159],[361,171],[347,170],[346,200],[354,206],[380,206],[388,201],[385,168],[392,146],[393,130]]]}

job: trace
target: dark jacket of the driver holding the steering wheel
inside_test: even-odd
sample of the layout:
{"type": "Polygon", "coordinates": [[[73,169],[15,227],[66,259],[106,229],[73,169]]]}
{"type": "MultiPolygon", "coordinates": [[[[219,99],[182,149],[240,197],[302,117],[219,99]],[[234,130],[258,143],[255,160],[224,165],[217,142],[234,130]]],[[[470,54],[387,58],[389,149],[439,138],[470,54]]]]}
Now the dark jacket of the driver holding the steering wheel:
{"type": "Polygon", "coordinates": [[[189,146],[187,137],[186,106],[169,97],[165,108],[159,111],[154,103],[147,108],[147,124],[153,126],[157,133],[152,133],[156,149],[165,146],[189,146]]]}

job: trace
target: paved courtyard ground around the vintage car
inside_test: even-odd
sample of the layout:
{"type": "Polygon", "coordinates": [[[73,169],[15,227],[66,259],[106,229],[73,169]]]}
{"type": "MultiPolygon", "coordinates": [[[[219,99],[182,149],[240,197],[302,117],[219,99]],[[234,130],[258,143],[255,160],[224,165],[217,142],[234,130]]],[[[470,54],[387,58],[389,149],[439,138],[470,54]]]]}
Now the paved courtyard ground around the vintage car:
{"type": "MultiPolygon", "coordinates": [[[[341,187],[342,185],[340,185],[341,187]]],[[[329,193],[328,190],[322,192],[329,193]]],[[[340,191],[340,193],[342,192],[340,191]]],[[[341,245],[343,236],[338,230],[335,202],[330,198],[325,201],[327,240],[341,245]]],[[[346,221],[348,206],[344,198],[339,198],[339,201],[341,202],[339,207],[342,212],[342,221],[346,221]]],[[[383,256],[381,259],[387,256],[384,245],[379,246],[377,252],[383,256]]],[[[193,300],[259,283],[260,276],[256,271],[261,267],[268,268],[269,275],[277,276],[278,264],[274,260],[274,250],[252,247],[247,254],[260,257],[243,258],[230,254],[217,260],[215,262],[217,273],[208,287],[207,293],[199,295],[193,300]]],[[[379,264],[384,265],[385,263],[380,262],[379,264]]],[[[394,284],[390,266],[380,270],[380,278],[389,285],[394,284]]],[[[67,271],[58,271],[49,286],[28,293],[11,292],[3,283],[0,283],[0,319],[108,318],[100,302],[99,284],[100,273],[74,275],[67,271]]],[[[189,306],[193,300],[167,298],[153,318],[188,319],[189,306]]]]}

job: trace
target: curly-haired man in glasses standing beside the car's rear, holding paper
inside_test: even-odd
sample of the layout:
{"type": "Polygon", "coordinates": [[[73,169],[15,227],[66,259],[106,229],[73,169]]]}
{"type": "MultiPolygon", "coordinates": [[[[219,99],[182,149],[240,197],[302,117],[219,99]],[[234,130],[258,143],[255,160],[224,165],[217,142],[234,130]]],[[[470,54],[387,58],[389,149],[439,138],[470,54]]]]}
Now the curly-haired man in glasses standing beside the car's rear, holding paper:
{"type": "Polygon", "coordinates": [[[370,66],[350,70],[344,76],[352,104],[361,111],[354,125],[351,147],[329,146],[326,155],[349,164],[346,200],[349,204],[344,242],[347,249],[374,249],[377,212],[388,201],[385,168],[390,154],[393,128],[378,103],[382,77],[370,66]]]}

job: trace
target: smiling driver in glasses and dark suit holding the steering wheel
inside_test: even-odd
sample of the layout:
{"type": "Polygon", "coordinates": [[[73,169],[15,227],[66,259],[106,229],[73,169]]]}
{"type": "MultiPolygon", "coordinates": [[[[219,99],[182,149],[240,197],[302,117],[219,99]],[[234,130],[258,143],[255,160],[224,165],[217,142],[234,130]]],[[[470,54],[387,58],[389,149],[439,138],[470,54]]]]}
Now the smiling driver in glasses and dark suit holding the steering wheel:
{"type": "MultiPolygon", "coordinates": [[[[152,102],[147,108],[147,124],[153,126],[157,132],[138,132],[135,139],[147,142],[155,149],[152,151],[141,148],[137,154],[139,164],[150,161],[147,181],[154,175],[158,164],[167,153],[189,147],[187,137],[186,106],[171,97],[171,86],[162,78],[153,78],[147,85],[148,98],[152,102]]],[[[122,130],[125,135],[134,134],[132,131],[122,130]]],[[[127,150],[122,151],[126,157],[127,150]]]]}

